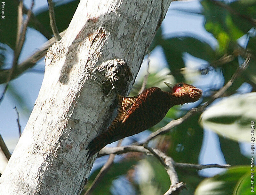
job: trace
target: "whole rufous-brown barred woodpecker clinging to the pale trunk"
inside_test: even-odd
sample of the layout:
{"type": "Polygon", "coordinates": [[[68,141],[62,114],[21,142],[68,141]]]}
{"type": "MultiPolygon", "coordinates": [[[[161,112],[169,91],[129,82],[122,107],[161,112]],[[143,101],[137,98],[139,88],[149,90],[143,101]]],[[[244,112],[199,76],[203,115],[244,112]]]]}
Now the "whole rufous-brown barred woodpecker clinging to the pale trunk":
{"type": "Polygon", "coordinates": [[[92,139],[86,148],[89,150],[87,155],[91,157],[107,144],[154,126],[172,106],[195,102],[202,96],[200,89],[186,83],[177,83],[174,86],[165,84],[171,88],[171,93],[151,87],[135,97],[118,96],[119,109],[116,118],[107,131],[92,139]]]}

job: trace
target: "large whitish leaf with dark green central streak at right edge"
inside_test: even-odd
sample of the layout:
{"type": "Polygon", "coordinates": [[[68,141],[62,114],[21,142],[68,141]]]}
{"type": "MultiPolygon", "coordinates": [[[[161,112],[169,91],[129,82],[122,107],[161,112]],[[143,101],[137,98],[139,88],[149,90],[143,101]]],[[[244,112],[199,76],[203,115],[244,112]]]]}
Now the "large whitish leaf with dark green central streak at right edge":
{"type": "Polygon", "coordinates": [[[256,114],[256,93],[234,95],[219,101],[201,115],[201,125],[236,141],[251,140],[251,121],[256,114]]]}

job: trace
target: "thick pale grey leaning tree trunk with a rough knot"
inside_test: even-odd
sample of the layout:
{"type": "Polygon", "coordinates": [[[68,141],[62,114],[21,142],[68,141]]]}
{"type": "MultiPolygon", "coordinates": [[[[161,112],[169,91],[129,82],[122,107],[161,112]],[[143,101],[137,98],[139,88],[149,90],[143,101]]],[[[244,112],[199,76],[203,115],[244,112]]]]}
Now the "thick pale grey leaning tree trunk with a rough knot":
{"type": "Polygon", "coordinates": [[[44,80],[0,178],[0,194],[80,194],[94,158],[87,144],[114,118],[170,0],[81,0],[48,50],[44,80]],[[111,90],[115,87],[114,90],[111,90]]]}

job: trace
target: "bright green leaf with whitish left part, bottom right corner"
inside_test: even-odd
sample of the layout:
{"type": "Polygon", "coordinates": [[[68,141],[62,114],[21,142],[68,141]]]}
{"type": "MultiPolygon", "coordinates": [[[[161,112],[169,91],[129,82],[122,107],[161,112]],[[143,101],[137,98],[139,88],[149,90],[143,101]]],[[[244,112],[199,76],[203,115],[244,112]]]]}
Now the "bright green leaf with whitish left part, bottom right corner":
{"type": "Polygon", "coordinates": [[[247,194],[238,193],[239,191],[247,191],[250,183],[245,183],[248,174],[250,174],[250,166],[238,166],[228,169],[227,172],[219,174],[212,178],[204,179],[196,188],[195,195],[202,194],[247,194]],[[246,185],[246,186],[245,186],[246,185]]]}

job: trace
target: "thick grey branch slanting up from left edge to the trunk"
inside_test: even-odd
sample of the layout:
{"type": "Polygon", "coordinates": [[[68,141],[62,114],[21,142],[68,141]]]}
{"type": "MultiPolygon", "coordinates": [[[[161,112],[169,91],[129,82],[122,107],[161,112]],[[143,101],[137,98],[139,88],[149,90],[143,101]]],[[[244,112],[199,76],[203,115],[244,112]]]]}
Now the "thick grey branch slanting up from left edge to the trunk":
{"type": "MultiPolygon", "coordinates": [[[[62,37],[66,33],[66,30],[60,33],[60,36],[62,37]]],[[[12,79],[15,79],[20,74],[22,74],[24,71],[28,70],[29,68],[33,67],[38,60],[40,60],[42,57],[45,56],[47,53],[47,49],[49,49],[53,43],[55,43],[55,38],[52,37],[50,40],[46,41],[43,46],[36,51],[33,55],[28,57],[25,61],[21,62],[17,65],[16,69],[12,73],[12,79]]],[[[0,71],[0,84],[5,83],[8,75],[10,74],[11,69],[5,69],[0,71]]]]}

